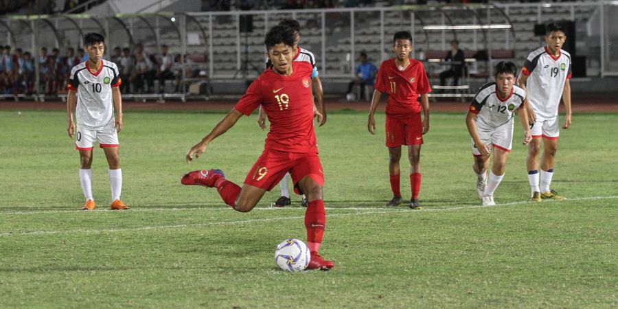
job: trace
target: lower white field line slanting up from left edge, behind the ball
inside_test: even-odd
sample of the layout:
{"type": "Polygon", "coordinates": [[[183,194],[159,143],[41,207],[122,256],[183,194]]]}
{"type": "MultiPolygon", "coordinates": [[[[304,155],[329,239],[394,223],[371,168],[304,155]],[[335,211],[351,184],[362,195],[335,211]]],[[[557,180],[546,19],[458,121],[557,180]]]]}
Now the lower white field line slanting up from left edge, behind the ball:
{"type": "MultiPolygon", "coordinates": [[[[569,198],[566,201],[591,201],[591,200],[602,200],[602,199],[613,199],[618,198],[618,196],[593,196],[593,197],[584,197],[584,198],[569,198]]],[[[560,203],[561,201],[549,201],[543,203],[560,203]]],[[[367,214],[420,214],[426,211],[453,211],[460,209],[477,209],[477,208],[491,208],[491,207],[508,207],[514,205],[523,205],[528,204],[527,201],[522,202],[513,202],[513,203],[504,203],[498,204],[494,206],[482,206],[482,205],[469,205],[469,206],[454,206],[454,207],[443,207],[443,208],[433,208],[433,209],[422,209],[422,210],[411,210],[407,209],[407,207],[402,208],[363,208],[363,207],[329,207],[330,210],[357,210],[357,212],[347,213],[347,214],[328,214],[328,218],[334,217],[343,217],[343,216],[362,216],[367,214]],[[371,210],[371,211],[367,211],[371,210]]],[[[196,208],[190,208],[196,209],[196,208]]],[[[198,208],[199,209],[199,208],[198,208]]],[[[270,207],[265,208],[255,208],[255,209],[271,209],[270,207]]],[[[299,209],[304,210],[305,208],[287,208],[287,209],[299,209]]],[[[231,211],[231,209],[230,209],[231,211]]],[[[253,222],[271,222],[277,220],[288,220],[288,219],[301,219],[305,218],[304,216],[286,216],[286,217],[277,217],[277,218],[263,218],[263,219],[249,219],[249,220],[237,220],[237,221],[222,221],[222,222],[208,222],[208,223],[194,223],[187,225],[159,225],[159,226],[150,226],[150,227],[130,227],[126,229],[76,229],[76,230],[67,230],[67,231],[22,231],[16,233],[0,233],[0,237],[9,237],[9,236],[37,236],[37,235],[53,235],[53,234],[67,234],[67,233],[110,233],[110,232],[126,232],[126,231],[148,231],[148,230],[157,230],[157,229],[185,229],[189,227],[207,227],[214,225],[242,225],[253,222]]]]}

